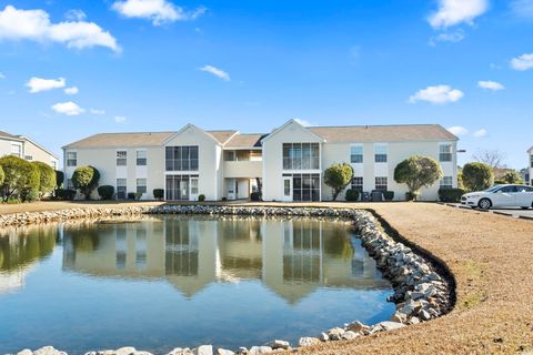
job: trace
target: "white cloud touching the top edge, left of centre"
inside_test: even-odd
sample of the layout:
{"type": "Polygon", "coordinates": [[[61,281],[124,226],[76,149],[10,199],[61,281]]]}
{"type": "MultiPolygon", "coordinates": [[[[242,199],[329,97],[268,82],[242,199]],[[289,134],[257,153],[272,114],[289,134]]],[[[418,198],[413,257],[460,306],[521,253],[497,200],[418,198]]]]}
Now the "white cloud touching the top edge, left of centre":
{"type": "Polygon", "coordinates": [[[188,12],[167,0],[122,0],[114,2],[112,8],[127,18],[149,19],[154,26],[194,20],[207,10],[198,8],[188,12]]]}

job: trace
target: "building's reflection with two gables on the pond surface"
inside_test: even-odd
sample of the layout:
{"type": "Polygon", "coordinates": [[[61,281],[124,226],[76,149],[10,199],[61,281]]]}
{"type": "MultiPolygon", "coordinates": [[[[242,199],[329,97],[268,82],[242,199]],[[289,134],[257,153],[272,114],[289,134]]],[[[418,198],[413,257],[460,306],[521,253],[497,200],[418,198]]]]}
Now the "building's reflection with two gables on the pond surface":
{"type": "Polygon", "coordinates": [[[63,267],[165,278],[185,296],[212,282],[262,280],[296,302],[321,286],[386,287],[345,224],[310,220],[162,219],[66,231],[63,267]]]}

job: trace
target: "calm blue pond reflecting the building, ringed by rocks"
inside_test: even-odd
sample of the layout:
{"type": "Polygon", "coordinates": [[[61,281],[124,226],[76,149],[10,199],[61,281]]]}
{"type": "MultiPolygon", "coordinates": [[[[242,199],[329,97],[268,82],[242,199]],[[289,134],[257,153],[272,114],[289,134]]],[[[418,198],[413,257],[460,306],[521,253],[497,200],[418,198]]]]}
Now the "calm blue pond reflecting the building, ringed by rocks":
{"type": "Polygon", "coordinates": [[[0,354],[296,344],[394,312],[349,222],[144,216],[0,234],[0,354]]]}

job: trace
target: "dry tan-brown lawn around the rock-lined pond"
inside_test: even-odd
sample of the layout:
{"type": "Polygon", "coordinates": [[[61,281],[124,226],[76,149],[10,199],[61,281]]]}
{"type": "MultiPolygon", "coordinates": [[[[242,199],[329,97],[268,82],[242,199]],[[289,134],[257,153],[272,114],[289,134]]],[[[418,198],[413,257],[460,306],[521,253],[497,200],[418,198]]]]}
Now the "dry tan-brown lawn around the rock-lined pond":
{"type": "MultiPolygon", "coordinates": [[[[1,205],[0,213],[80,205],[87,206],[84,203],[51,202],[1,205]]],[[[400,235],[443,261],[456,281],[456,306],[450,314],[428,323],[353,342],[321,344],[298,353],[348,355],[533,352],[532,221],[425,203],[328,205],[372,209],[400,235]]]]}

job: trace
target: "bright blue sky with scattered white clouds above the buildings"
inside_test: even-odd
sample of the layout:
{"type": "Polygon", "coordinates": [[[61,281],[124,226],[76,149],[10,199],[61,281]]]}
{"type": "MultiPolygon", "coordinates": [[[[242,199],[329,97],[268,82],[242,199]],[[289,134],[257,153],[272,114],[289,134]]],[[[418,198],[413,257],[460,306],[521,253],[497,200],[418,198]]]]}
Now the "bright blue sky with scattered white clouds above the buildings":
{"type": "Polygon", "coordinates": [[[58,154],[98,132],[300,119],[440,123],[461,162],[499,149],[519,169],[533,0],[0,1],[0,130],[58,154]]]}

